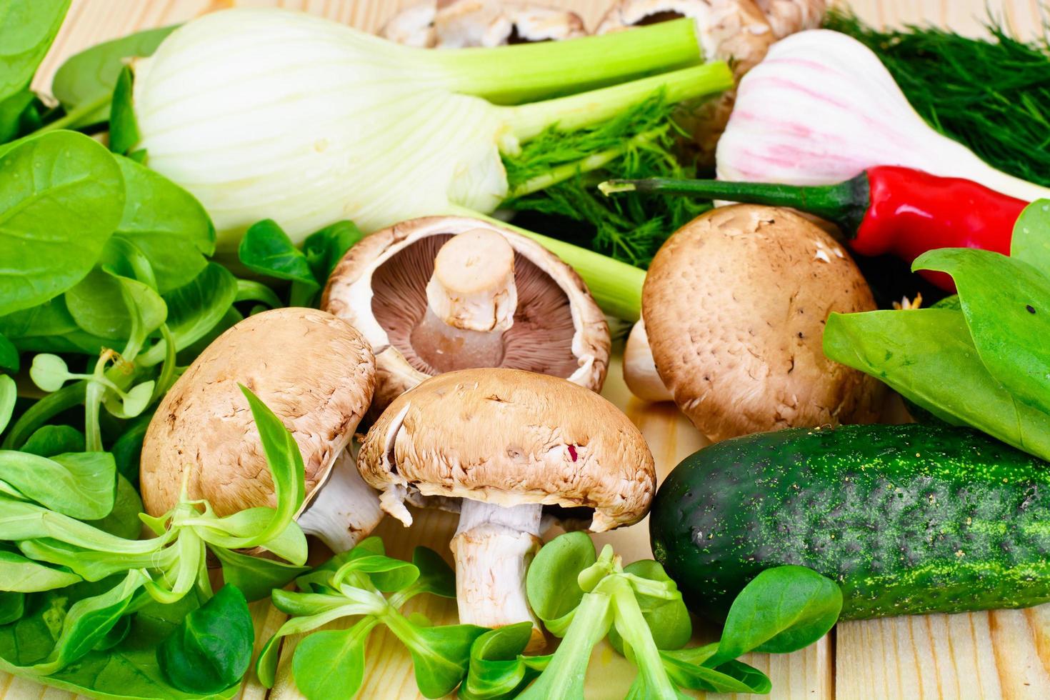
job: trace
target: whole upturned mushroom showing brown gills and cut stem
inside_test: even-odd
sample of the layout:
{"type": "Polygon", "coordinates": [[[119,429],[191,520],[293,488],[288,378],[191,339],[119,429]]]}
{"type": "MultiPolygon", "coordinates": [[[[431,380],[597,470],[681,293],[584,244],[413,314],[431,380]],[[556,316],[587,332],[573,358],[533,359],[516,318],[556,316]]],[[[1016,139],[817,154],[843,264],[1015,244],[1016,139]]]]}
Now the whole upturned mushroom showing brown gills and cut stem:
{"type": "Polygon", "coordinates": [[[609,327],[579,275],[539,243],[474,218],[426,217],[351,248],[321,305],[376,356],[378,415],[427,377],[511,367],[600,390],[609,327]]]}

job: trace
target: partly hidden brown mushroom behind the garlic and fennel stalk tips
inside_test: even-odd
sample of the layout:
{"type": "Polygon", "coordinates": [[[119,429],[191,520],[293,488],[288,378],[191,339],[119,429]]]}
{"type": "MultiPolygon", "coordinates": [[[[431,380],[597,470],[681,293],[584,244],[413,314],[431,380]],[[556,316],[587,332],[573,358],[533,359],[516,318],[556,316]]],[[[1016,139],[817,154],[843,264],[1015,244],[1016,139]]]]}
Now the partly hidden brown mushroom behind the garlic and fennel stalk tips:
{"type": "MultiPolygon", "coordinates": [[[[620,0],[595,34],[692,18],[704,55],[729,61],[737,80],[765,58],[777,39],[819,24],[825,0],[620,0]]],[[[733,111],[735,91],[713,101],[686,105],[675,119],[692,134],[701,165],[714,165],[715,146],[733,111]]]]}

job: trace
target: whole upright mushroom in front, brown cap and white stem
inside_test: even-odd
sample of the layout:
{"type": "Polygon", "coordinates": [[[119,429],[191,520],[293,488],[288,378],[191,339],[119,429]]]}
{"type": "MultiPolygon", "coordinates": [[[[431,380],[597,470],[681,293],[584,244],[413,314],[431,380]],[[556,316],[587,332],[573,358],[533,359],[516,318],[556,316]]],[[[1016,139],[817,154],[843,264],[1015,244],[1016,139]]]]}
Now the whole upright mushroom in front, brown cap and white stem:
{"type": "Polygon", "coordinates": [[[630,525],[656,486],[642,433],[601,396],[556,377],[464,369],[401,395],[369,430],[358,455],[383,510],[412,524],[404,501],[457,508],[460,622],[530,620],[525,572],[544,526],[583,522],[593,532],[630,525]]]}

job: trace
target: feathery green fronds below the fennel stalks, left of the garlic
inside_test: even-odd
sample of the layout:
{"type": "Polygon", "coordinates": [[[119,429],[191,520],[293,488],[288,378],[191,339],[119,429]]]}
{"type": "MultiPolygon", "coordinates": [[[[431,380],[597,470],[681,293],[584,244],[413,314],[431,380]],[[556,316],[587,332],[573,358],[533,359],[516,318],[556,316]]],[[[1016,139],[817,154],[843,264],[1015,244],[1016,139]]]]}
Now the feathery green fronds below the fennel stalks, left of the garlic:
{"type": "Polygon", "coordinates": [[[575,169],[567,179],[540,191],[512,195],[504,206],[561,222],[576,221],[585,233],[566,236],[558,225],[550,233],[559,238],[584,238],[600,253],[648,267],[668,236],[710,209],[710,203],[652,194],[605,197],[596,186],[611,177],[695,177],[695,169],[679,164],[675,155],[680,135],[672,119],[675,109],[657,93],[595,127],[575,131],[562,131],[556,124],[548,127],[524,144],[519,154],[503,156],[511,193],[596,153],[611,152],[614,157],[594,170],[575,169]]]}

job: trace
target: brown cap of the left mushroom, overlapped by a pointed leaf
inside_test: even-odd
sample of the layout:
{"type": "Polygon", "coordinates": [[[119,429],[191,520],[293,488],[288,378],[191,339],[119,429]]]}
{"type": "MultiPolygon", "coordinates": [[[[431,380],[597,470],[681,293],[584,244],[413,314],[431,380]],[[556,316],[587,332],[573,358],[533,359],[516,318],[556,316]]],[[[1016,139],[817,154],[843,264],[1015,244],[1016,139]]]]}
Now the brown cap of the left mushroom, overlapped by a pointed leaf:
{"type": "Polygon", "coordinates": [[[314,309],[274,309],[216,338],[165,395],[142,449],[151,515],[191,499],[218,515],[274,506],[273,481],[244,384],[291,430],[306,467],[303,508],[328,479],[372,400],[375,363],[361,335],[314,309]]]}

